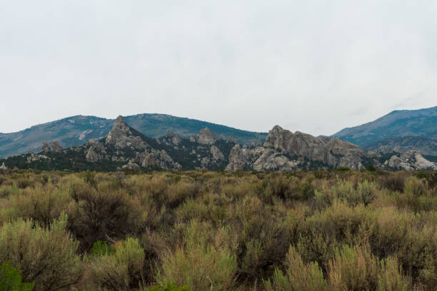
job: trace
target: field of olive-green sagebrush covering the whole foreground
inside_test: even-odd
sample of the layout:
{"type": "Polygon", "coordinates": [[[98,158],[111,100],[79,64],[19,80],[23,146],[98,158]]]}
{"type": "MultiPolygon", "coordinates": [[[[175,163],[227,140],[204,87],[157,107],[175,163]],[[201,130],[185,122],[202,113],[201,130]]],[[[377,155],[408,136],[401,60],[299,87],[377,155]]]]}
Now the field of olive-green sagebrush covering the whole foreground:
{"type": "Polygon", "coordinates": [[[1,290],[436,290],[437,173],[0,174],[1,290]]]}

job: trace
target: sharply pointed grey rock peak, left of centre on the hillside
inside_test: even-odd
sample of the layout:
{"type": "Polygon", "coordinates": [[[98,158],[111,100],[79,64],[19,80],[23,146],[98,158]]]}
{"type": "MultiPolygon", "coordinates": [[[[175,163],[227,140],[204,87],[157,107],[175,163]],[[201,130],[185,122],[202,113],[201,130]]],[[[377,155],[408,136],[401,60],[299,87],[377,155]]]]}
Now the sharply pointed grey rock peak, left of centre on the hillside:
{"type": "Polygon", "coordinates": [[[139,137],[132,133],[131,128],[124,121],[123,116],[116,118],[114,126],[111,131],[109,131],[108,136],[106,136],[105,143],[108,145],[114,145],[116,149],[124,148],[147,148],[147,144],[139,137]]]}

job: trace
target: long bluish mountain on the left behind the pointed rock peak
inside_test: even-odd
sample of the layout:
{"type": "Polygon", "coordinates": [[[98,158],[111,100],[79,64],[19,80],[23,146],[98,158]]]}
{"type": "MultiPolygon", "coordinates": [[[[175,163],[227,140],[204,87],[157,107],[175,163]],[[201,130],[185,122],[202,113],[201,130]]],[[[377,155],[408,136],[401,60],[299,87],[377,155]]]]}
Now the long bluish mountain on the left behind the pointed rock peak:
{"type": "MultiPolygon", "coordinates": [[[[137,131],[153,138],[164,136],[167,131],[189,138],[206,127],[221,138],[227,139],[228,136],[232,136],[243,144],[261,143],[267,136],[267,133],[242,131],[206,121],[165,114],[145,113],[126,116],[125,119],[137,131]]],[[[99,140],[106,136],[113,123],[114,119],[96,116],[72,116],[32,126],[16,133],[0,133],[0,158],[31,151],[37,152],[44,141],[58,141],[64,148],[80,146],[90,139],[99,140]]]]}

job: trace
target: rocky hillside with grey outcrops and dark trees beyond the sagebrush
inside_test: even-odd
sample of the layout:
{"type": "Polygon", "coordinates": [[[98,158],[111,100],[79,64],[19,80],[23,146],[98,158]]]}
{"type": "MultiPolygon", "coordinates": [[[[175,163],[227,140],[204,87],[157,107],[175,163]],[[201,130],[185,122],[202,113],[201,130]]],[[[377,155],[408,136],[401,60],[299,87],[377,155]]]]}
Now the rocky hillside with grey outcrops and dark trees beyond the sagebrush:
{"type": "Polygon", "coordinates": [[[108,135],[86,145],[62,148],[57,141],[43,143],[39,153],[0,160],[4,168],[41,170],[313,170],[362,169],[368,165],[388,170],[433,169],[418,152],[366,152],[339,138],[316,138],[292,133],[280,126],[268,132],[262,145],[242,145],[223,139],[209,128],[190,138],[168,131],[161,138],[144,136],[116,118],[108,135]]]}

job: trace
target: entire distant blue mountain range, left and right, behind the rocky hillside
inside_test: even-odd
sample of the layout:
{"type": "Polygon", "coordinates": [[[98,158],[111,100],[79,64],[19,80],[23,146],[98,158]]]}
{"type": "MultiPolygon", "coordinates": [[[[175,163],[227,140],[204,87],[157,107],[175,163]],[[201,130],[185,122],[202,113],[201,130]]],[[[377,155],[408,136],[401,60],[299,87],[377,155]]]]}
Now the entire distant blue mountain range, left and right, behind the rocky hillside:
{"type": "MultiPolygon", "coordinates": [[[[219,138],[233,141],[242,146],[261,145],[267,133],[243,131],[206,121],[169,116],[166,114],[139,114],[126,116],[126,123],[136,131],[150,138],[166,136],[168,131],[190,138],[209,128],[219,138]]],[[[114,119],[96,116],[72,116],[59,121],[32,126],[16,133],[0,133],[0,158],[41,150],[44,141],[58,141],[63,148],[86,144],[90,139],[101,140],[108,135],[114,119]]],[[[340,138],[379,154],[406,153],[411,150],[437,160],[437,106],[420,110],[393,111],[386,116],[353,128],[344,128],[331,137],[340,138]]]]}

